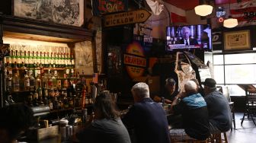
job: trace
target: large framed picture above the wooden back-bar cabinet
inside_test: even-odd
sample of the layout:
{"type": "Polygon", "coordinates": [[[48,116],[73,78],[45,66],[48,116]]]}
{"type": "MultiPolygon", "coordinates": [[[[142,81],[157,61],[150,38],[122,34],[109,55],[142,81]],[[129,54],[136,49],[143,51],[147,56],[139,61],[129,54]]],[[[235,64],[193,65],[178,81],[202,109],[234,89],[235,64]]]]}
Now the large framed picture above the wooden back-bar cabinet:
{"type": "Polygon", "coordinates": [[[80,27],[84,0],[14,0],[14,16],[80,27]]]}

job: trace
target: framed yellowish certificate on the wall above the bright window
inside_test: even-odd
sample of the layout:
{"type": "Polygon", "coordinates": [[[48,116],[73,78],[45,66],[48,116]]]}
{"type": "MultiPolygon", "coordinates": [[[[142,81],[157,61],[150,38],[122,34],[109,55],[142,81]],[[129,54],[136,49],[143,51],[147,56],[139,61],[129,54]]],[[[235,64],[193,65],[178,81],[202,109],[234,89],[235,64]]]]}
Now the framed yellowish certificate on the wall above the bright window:
{"type": "Polygon", "coordinates": [[[251,49],[250,30],[224,33],[224,51],[251,49]]]}

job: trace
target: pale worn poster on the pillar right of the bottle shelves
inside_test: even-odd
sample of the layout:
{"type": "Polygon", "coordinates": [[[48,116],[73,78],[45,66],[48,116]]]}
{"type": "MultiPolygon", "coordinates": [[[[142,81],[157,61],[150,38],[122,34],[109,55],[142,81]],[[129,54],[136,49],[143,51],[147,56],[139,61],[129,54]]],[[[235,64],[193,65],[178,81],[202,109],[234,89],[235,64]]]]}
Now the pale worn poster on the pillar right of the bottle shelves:
{"type": "Polygon", "coordinates": [[[91,41],[75,43],[75,70],[80,75],[94,73],[91,41]]]}

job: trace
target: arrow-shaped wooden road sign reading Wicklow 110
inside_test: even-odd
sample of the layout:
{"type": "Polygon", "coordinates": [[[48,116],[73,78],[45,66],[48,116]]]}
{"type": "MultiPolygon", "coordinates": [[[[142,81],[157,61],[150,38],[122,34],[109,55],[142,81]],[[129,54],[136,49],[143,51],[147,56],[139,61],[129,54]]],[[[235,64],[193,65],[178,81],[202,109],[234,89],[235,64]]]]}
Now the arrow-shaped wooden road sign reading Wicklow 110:
{"type": "Polygon", "coordinates": [[[145,22],[151,14],[149,11],[140,9],[137,11],[107,14],[104,16],[104,27],[114,27],[123,24],[135,24],[145,22]]]}

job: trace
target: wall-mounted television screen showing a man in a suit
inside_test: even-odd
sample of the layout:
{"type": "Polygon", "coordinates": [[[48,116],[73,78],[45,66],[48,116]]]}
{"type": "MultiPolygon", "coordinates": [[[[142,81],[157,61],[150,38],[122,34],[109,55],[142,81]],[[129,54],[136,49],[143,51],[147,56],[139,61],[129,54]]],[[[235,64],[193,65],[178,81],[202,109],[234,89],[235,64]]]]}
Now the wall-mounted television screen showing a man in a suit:
{"type": "Polygon", "coordinates": [[[166,49],[212,49],[209,24],[166,27],[166,49]]]}

